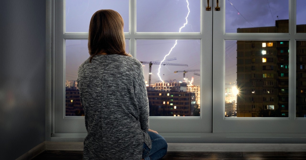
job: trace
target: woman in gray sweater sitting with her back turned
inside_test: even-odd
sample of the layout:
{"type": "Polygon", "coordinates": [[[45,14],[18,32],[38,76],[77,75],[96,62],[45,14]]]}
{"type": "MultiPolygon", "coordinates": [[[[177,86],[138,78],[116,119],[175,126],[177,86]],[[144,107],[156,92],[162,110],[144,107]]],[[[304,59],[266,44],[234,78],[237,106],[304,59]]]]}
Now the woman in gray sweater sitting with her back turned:
{"type": "Polygon", "coordinates": [[[149,129],[149,105],[140,61],[125,52],[123,19],[111,9],[93,14],[90,57],[78,69],[85,112],[83,159],[161,159],[165,139],[149,129]]]}

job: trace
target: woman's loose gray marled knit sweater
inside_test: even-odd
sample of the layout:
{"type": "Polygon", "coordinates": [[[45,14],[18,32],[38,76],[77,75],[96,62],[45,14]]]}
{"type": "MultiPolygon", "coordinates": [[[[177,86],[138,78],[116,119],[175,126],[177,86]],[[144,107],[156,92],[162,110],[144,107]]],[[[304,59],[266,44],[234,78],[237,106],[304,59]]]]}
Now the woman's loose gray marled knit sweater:
{"type": "Polygon", "coordinates": [[[151,148],[149,104],[144,72],[136,58],[96,55],[78,69],[80,101],[88,135],[84,160],[140,160],[151,148]]]}

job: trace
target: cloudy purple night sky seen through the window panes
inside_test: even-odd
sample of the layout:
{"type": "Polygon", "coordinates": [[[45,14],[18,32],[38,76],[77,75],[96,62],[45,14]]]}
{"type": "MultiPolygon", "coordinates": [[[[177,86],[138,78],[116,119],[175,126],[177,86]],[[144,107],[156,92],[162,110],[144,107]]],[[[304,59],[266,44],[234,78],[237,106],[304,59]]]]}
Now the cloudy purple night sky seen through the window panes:
{"type": "MultiPolygon", "coordinates": [[[[222,2],[222,1],[221,1],[222,2]]],[[[206,1],[205,1],[206,3],[206,1]]],[[[237,28],[275,26],[275,20],[289,19],[288,0],[226,0],[226,32],[235,33],[237,28]],[[233,4],[233,5],[232,5],[233,4]],[[277,17],[278,16],[278,17],[277,17]]],[[[206,6],[206,4],[205,4],[206,6]]],[[[200,32],[200,0],[189,0],[188,24],[181,32],[200,32]]],[[[306,1],[297,0],[297,24],[306,24],[306,1]]],[[[125,21],[124,32],[129,32],[128,0],[66,0],[66,32],[88,32],[89,21],[99,9],[114,9],[125,21]]],[[[179,32],[188,13],[186,0],[137,1],[137,32],[179,32]]],[[[127,42],[127,52],[129,43],[127,42]]],[[[162,61],[173,47],[173,40],[137,40],[136,58],[140,61],[162,61]]],[[[236,41],[226,41],[226,83],[236,81],[236,41]]],[[[204,55],[205,56],[205,55],[204,55]]],[[[66,40],[66,80],[76,80],[79,65],[89,57],[87,40],[66,40]]],[[[163,80],[182,80],[177,70],[200,69],[200,41],[182,39],[167,58],[169,63],[186,66],[162,65],[163,80]]],[[[152,65],[152,84],[159,81],[159,65],[152,65]]],[[[148,64],[144,64],[144,76],[148,80],[148,64]]],[[[197,72],[199,73],[199,72],[197,72]]],[[[200,84],[200,76],[186,73],[188,80],[200,84]]]]}

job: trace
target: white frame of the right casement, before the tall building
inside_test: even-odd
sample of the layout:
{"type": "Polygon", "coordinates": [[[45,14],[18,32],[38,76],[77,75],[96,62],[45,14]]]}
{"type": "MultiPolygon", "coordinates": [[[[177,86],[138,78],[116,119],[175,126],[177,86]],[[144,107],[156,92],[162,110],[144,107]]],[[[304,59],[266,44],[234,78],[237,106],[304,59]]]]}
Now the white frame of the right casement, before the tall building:
{"type": "MultiPolygon", "coordinates": [[[[221,1],[222,8],[226,0],[221,1]]],[[[305,33],[296,33],[296,0],[289,0],[289,33],[226,33],[225,9],[214,12],[213,19],[213,132],[253,133],[261,137],[273,133],[285,137],[303,137],[306,118],[296,117],[296,41],[306,40],[305,33]],[[216,18],[222,17],[222,18],[216,18]],[[225,41],[226,40],[286,40],[289,41],[289,117],[224,117],[225,41]],[[221,47],[220,47],[221,46],[221,47]],[[294,52],[291,52],[294,51],[294,52]],[[223,59],[223,61],[221,60],[223,59]],[[218,64],[218,65],[215,65],[218,64]],[[220,100],[222,99],[222,100],[220,100]]],[[[220,3],[219,3],[220,4],[220,3]]]]}

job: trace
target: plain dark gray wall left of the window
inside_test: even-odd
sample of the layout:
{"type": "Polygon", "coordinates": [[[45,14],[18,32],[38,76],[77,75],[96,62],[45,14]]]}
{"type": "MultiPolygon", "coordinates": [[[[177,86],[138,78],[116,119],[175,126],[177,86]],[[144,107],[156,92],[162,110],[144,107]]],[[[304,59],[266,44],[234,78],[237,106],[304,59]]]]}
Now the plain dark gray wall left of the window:
{"type": "Polygon", "coordinates": [[[0,159],[45,141],[46,1],[0,1],[0,159]]]}

